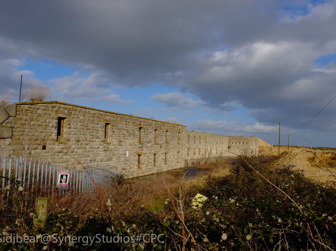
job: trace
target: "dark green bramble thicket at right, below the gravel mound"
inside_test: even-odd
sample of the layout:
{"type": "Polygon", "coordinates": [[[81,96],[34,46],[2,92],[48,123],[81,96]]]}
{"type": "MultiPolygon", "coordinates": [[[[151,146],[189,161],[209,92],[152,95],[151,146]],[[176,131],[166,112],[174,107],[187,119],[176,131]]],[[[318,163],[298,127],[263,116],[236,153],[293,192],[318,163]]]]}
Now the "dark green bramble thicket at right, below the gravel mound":
{"type": "Polygon", "coordinates": [[[271,168],[256,157],[238,157],[232,174],[209,177],[201,192],[209,197],[202,208],[208,216],[194,226],[202,225],[210,247],[335,248],[335,189],[313,183],[290,166],[271,168]]]}

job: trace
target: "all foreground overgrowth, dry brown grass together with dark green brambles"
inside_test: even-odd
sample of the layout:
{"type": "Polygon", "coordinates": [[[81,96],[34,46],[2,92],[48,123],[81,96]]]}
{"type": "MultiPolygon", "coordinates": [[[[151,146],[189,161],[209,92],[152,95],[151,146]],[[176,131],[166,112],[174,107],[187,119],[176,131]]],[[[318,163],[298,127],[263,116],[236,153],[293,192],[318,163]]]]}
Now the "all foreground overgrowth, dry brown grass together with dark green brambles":
{"type": "MultiPolygon", "coordinates": [[[[33,191],[12,189],[1,205],[3,236],[129,238],[162,234],[152,242],[5,243],[1,250],[335,250],[336,190],[291,166],[271,167],[240,156],[230,174],[223,162],[205,177],[124,180],[98,193],[54,196],[45,229],[34,229],[33,191]],[[163,181],[164,180],[164,181],[163,181]],[[192,198],[208,199],[194,209],[192,198]],[[104,199],[104,202],[102,199],[104,199]],[[162,241],[162,243],[161,243],[162,241]]],[[[7,194],[7,190],[4,191],[7,194]]],[[[47,196],[47,194],[46,194],[47,196]]],[[[126,238],[126,240],[127,240],[126,238]]],[[[148,239],[146,239],[148,240],[148,239]]]]}

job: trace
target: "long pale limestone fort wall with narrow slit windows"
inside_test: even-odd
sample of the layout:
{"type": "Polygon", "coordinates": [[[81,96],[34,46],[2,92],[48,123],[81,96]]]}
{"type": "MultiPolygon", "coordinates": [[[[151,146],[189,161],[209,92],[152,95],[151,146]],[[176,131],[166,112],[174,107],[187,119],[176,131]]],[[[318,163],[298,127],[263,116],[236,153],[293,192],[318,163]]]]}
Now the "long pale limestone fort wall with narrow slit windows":
{"type": "Polygon", "coordinates": [[[0,154],[61,166],[82,168],[77,159],[132,178],[197,159],[257,151],[254,137],[190,132],[180,124],[85,106],[57,101],[0,104],[0,154]]]}

